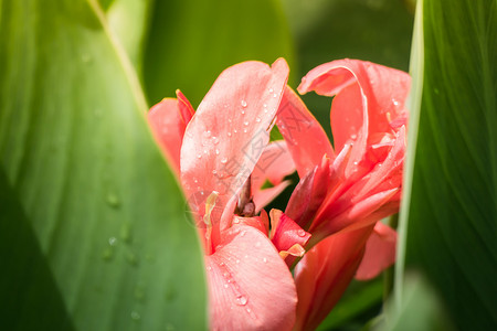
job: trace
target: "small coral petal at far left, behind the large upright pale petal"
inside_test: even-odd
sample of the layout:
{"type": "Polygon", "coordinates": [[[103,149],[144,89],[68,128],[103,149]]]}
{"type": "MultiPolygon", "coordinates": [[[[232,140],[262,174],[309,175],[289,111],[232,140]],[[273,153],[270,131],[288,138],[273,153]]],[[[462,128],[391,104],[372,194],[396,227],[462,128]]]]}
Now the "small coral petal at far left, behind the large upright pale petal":
{"type": "Polygon", "coordinates": [[[154,136],[178,175],[181,142],[188,124],[181,116],[180,104],[177,99],[166,98],[148,113],[154,136]]]}

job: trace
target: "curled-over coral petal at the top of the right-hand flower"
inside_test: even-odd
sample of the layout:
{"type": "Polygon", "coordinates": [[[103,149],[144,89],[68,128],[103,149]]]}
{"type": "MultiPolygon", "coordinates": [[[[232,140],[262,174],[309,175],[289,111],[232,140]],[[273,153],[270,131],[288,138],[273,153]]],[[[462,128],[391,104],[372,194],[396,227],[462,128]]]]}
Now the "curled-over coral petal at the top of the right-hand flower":
{"type": "Polygon", "coordinates": [[[367,145],[393,134],[392,121],[405,119],[404,103],[410,87],[406,73],[357,60],[340,60],[310,71],[298,87],[300,93],[316,90],[337,95],[331,105],[331,129],[335,149],[355,141],[349,177],[366,153],[367,145]]]}

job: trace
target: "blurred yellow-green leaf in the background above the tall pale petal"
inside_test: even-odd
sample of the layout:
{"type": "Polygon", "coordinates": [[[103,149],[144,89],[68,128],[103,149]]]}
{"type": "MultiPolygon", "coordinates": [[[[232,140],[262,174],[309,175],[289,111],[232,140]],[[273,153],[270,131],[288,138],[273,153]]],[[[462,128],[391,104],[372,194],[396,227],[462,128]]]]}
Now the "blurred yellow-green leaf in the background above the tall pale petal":
{"type": "Polygon", "coordinates": [[[242,61],[285,57],[293,67],[279,0],[156,1],[149,29],[144,78],[151,104],[180,88],[195,106],[224,68],[242,61]]]}

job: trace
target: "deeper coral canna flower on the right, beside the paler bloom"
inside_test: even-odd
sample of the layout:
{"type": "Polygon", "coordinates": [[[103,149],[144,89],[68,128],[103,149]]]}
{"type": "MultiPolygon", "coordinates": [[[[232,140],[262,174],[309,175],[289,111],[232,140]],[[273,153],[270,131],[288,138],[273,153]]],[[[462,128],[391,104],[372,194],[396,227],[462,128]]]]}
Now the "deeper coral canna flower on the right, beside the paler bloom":
{"type": "Polygon", "coordinates": [[[311,117],[297,138],[285,126],[285,114],[308,114],[285,93],[277,125],[300,177],[285,213],[313,235],[295,268],[297,330],[315,329],[355,275],[370,279],[394,261],[396,234],[379,221],[399,211],[409,86],[408,74],[362,61],[310,71],[298,90],[335,96],[335,149],[311,117]]]}

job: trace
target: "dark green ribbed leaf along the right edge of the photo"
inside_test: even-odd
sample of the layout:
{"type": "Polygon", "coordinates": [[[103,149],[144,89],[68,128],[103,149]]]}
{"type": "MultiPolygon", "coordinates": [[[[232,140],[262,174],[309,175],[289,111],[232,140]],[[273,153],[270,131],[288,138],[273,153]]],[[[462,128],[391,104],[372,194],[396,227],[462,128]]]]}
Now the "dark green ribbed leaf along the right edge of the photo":
{"type": "MultiPolygon", "coordinates": [[[[446,4],[424,1],[422,11],[424,68],[414,72],[422,71],[424,79],[421,108],[411,109],[419,116],[419,135],[416,145],[410,140],[415,159],[406,171],[409,224],[401,222],[405,264],[429,277],[458,328],[491,330],[497,324],[497,1],[446,4]]],[[[405,298],[400,299],[402,305],[405,298]]]]}

